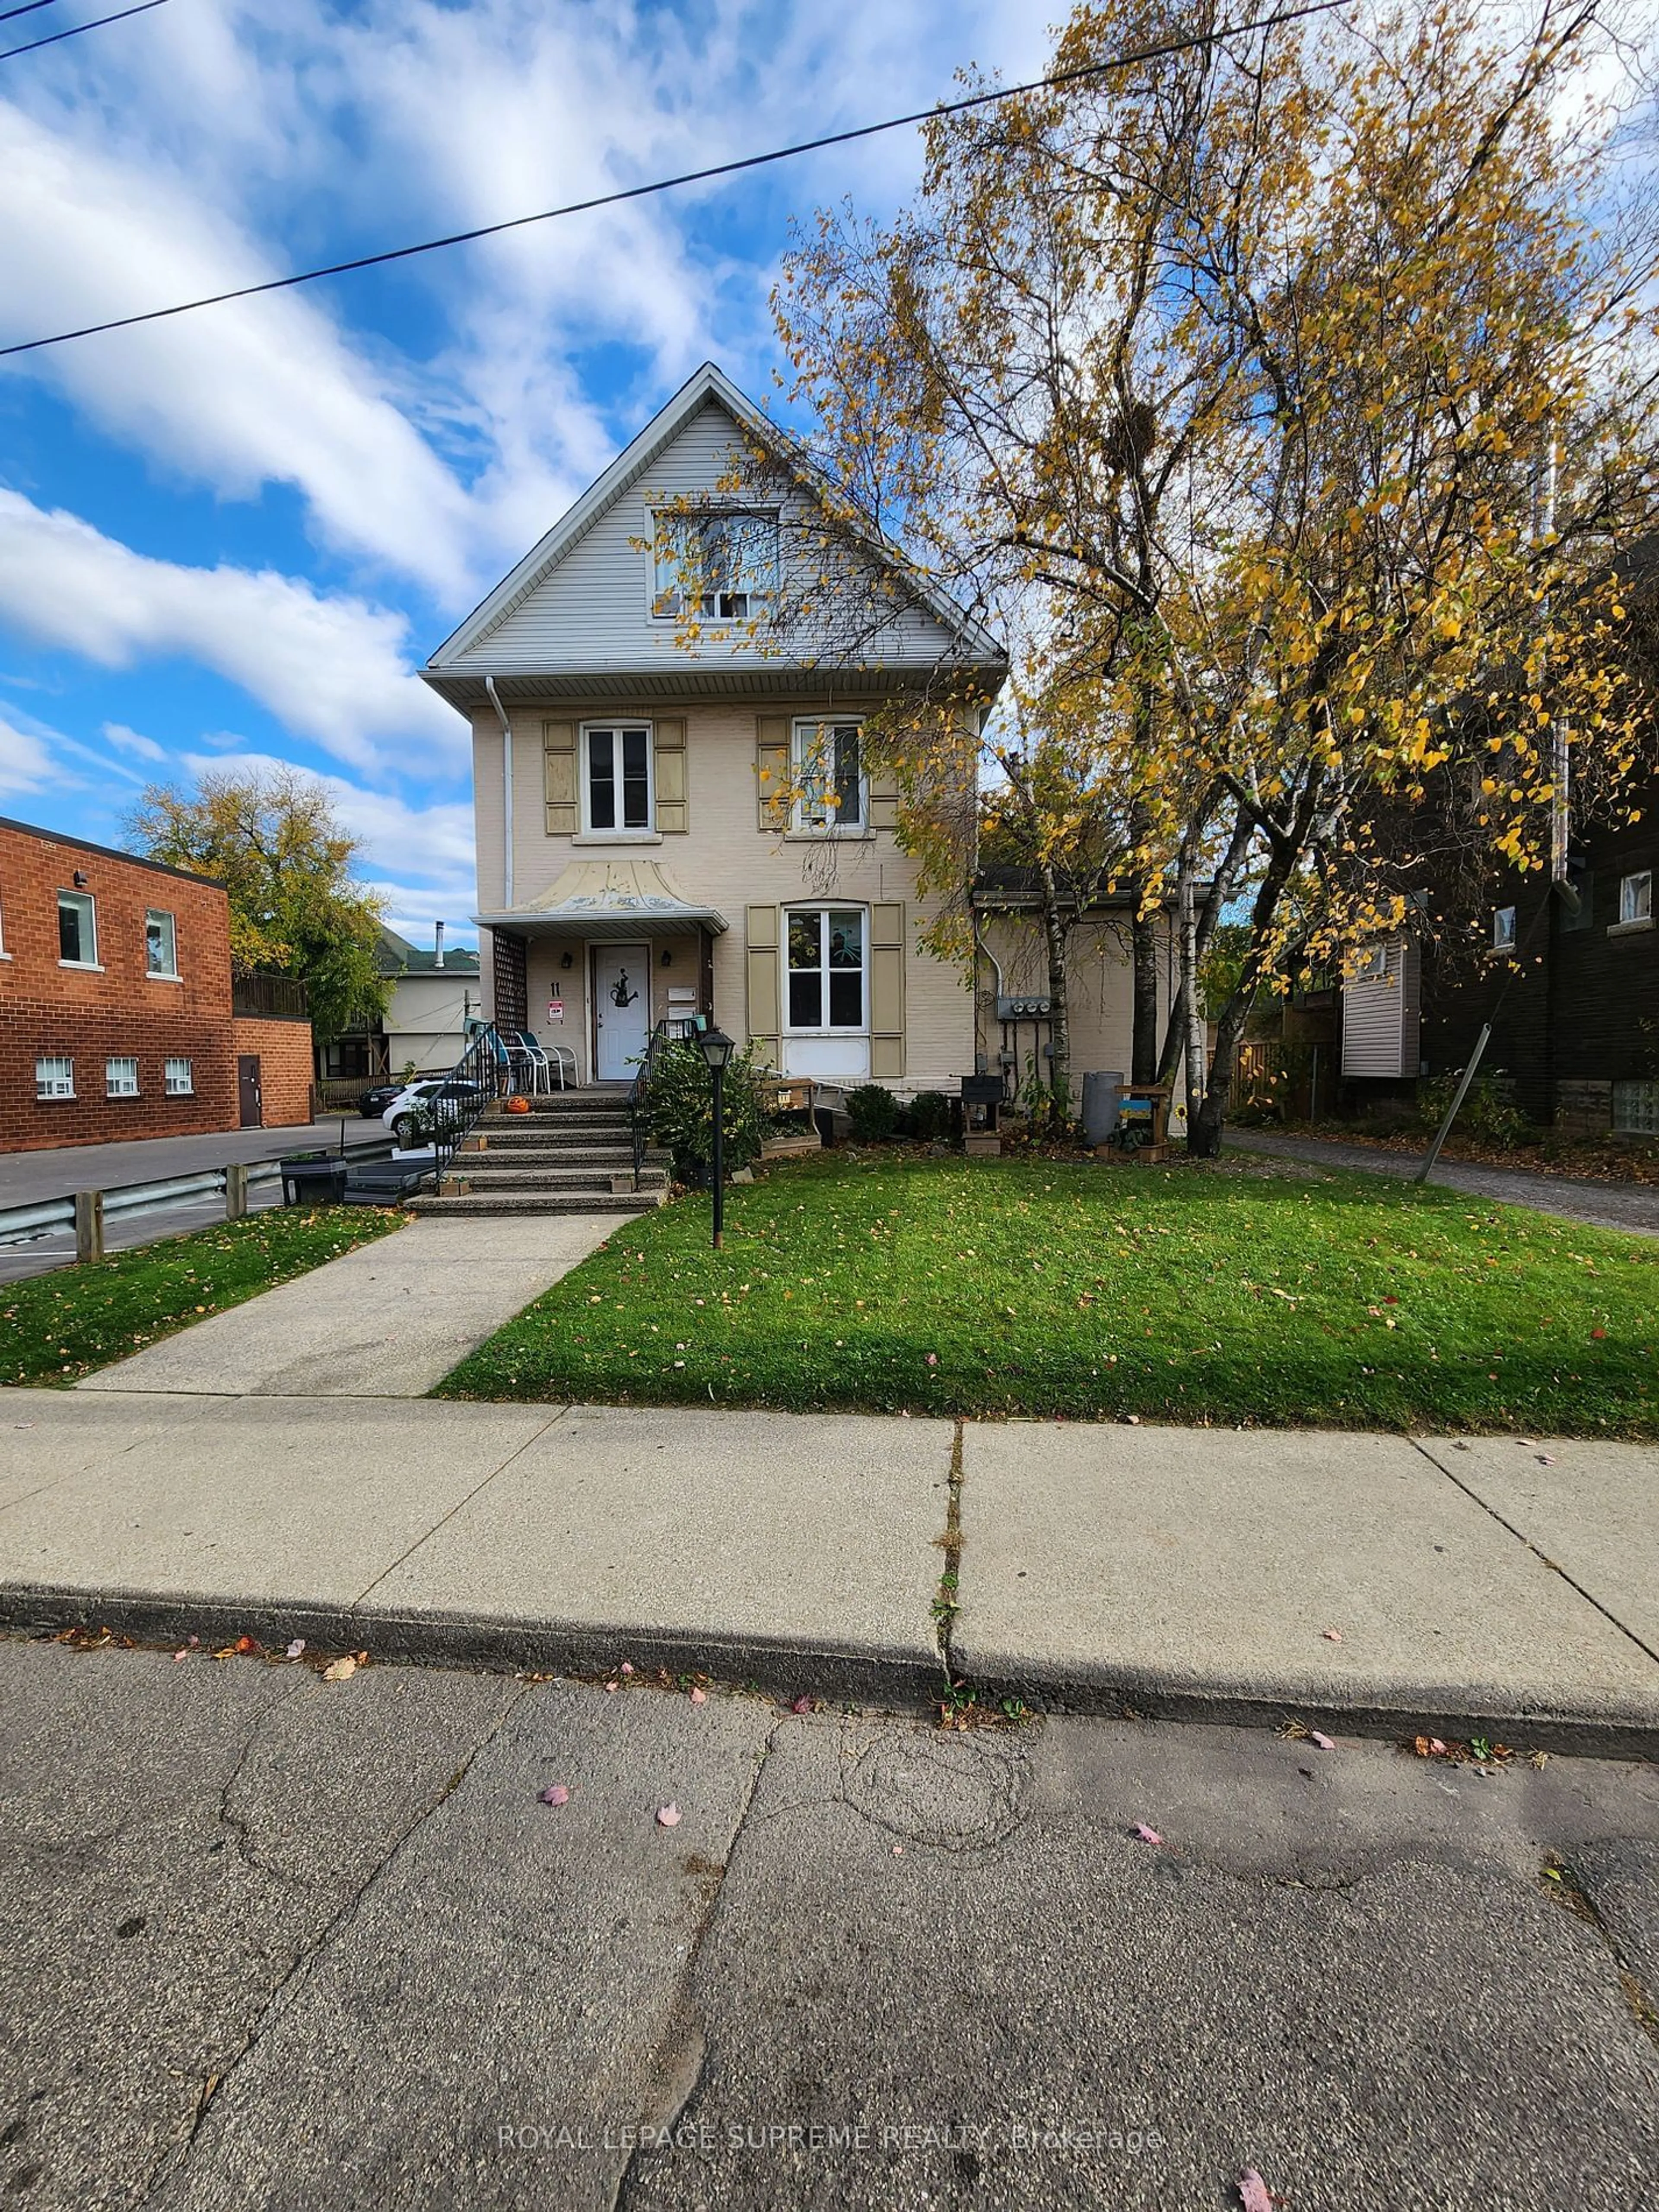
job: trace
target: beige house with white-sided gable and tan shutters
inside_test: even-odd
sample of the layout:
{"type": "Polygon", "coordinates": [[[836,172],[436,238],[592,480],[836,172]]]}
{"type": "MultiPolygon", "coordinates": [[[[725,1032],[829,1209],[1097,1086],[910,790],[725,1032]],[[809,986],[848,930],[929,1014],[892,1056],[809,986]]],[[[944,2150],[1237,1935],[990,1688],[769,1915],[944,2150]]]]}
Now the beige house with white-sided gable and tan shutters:
{"type": "Polygon", "coordinates": [[[975,1068],[973,993],[918,945],[860,723],[938,697],[942,670],[980,701],[953,712],[982,712],[1006,666],[909,593],[856,653],[783,646],[779,533],[810,498],[706,365],[422,670],[473,730],[489,1004],[582,1082],[626,1082],[653,1022],[699,1011],[785,1075],[916,1093],[975,1068]],[[732,491],[754,442],[779,476],[732,491]]]}

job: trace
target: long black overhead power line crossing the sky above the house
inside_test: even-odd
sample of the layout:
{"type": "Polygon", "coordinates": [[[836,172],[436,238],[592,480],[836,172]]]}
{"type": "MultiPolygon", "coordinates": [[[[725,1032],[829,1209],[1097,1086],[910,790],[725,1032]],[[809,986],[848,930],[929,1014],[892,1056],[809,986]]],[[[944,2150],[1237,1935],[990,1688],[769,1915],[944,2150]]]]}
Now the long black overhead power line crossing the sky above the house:
{"type": "MultiPolygon", "coordinates": [[[[159,7],[161,0],[144,0],[159,7]]],[[[1113,55],[1110,62],[1088,62],[1082,69],[1062,69],[1053,77],[1033,77],[1029,84],[1004,84],[993,93],[971,93],[967,100],[942,100],[933,108],[916,108],[911,115],[889,115],[880,124],[858,124],[852,131],[832,131],[827,137],[801,139],[796,146],[776,146],[772,153],[752,153],[739,161],[719,161],[712,168],[688,168],[679,177],[657,177],[655,184],[630,184],[619,192],[597,192],[593,199],[571,199],[562,208],[540,208],[535,215],[513,215],[502,223],[478,223],[476,230],[451,230],[442,239],[422,239],[418,246],[389,246],[378,254],[356,254],[352,261],[325,261],[314,270],[296,270],[292,276],[268,276],[263,283],[243,283],[232,292],[208,292],[204,299],[186,299],[175,307],[148,307],[144,314],[117,314],[108,323],[82,323],[80,330],[60,330],[51,338],[24,338],[18,345],[0,345],[0,361],[13,354],[38,354],[46,345],[69,345],[71,338],[95,338],[106,330],[135,330],[139,323],[164,323],[175,314],[195,314],[197,307],[223,307],[232,299],[259,299],[263,292],[288,292],[301,283],[316,283],[321,276],[349,276],[354,270],[385,268],[389,261],[411,261],[416,254],[436,254],[449,246],[471,246],[476,239],[498,239],[504,230],[524,230],[531,223],[555,223],[566,215],[591,215],[595,208],[619,208],[630,199],[650,199],[657,192],[677,192],[688,184],[712,184],[719,177],[741,177],[752,168],[770,168],[774,161],[794,161],[803,153],[823,153],[827,146],[852,146],[856,139],[880,137],[885,131],[905,131],[909,124],[933,122],[938,115],[962,115],[969,108],[989,108],[1000,100],[1018,100],[1022,93],[1042,93],[1079,77],[1104,77],[1117,69],[1137,69],[1141,62],[1161,62],[1194,46],[1217,46],[1228,38],[1245,38],[1252,31],[1274,31],[1279,24],[1301,22],[1305,15],[1327,15],[1347,7],[1349,0],[1307,0],[1305,7],[1281,9],[1276,15],[1261,15],[1250,22],[1223,24],[1214,31],[1194,31],[1188,38],[1159,40],[1152,46],[1135,46],[1113,55]]],[[[137,9],[126,13],[135,15],[137,9]]],[[[106,18],[115,22],[115,18],[106,18]]],[[[91,24],[86,24],[91,29],[91,24]]],[[[4,55],[0,55],[4,60],[4,55]]]]}

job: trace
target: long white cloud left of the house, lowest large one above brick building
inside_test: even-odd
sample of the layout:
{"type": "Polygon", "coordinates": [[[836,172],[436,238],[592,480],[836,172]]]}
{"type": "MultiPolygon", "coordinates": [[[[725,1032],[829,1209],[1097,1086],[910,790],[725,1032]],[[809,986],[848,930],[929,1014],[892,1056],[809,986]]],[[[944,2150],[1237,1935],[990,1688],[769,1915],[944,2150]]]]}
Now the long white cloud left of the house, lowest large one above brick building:
{"type": "Polygon", "coordinates": [[[188,655],[356,768],[456,772],[467,726],[409,670],[409,622],[294,577],[150,560],[0,487],[0,617],[104,668],[188,655]]]}

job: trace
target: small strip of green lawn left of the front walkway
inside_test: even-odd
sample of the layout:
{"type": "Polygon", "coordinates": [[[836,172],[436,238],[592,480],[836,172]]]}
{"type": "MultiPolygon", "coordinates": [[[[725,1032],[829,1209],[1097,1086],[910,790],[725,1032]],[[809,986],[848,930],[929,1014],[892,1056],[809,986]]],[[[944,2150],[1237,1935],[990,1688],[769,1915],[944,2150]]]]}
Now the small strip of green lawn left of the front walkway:
{"type": "Polygon", "coordinates": [[[190,1237],[0,1285],[0,1383],[75,1383],[400,1228],[378,1206],[272,1206],[190,1237]]]}

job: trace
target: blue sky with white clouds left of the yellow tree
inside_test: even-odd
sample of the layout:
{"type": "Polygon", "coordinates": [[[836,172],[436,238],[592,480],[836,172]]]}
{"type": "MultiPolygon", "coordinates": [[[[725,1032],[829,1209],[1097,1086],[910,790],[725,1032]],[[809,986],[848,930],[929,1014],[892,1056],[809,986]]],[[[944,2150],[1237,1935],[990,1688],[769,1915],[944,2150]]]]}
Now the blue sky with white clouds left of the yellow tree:
{"type": "MultiPolygon", "coordinates": [[[[1035,75],[1048,15],[168,0],[0,64],[0,343],[1035,75]]],[[[0,363],[0,812],[119,843],[146,781],[294,761],[398,927],[471,936],[467,730],[414,668],[699,361],[770,389],[790,215],[916,175],[900,133],[0,363]]]]}

